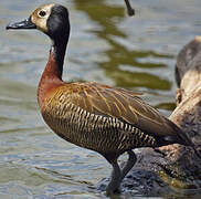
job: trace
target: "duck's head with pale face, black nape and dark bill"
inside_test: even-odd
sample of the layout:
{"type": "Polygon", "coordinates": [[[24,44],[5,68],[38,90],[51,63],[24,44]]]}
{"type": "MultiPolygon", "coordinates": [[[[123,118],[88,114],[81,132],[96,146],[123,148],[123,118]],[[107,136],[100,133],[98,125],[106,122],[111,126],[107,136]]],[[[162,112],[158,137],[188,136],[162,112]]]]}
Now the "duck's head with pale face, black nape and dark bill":
{"type": "Polygon", "coordinates": [[[68,38],[68,11],[61,4],[44,4],[34,10],[28,19],[8,24],[8,29],[38,29],[52,40],[64,39],[64,35],[68,38]]]}

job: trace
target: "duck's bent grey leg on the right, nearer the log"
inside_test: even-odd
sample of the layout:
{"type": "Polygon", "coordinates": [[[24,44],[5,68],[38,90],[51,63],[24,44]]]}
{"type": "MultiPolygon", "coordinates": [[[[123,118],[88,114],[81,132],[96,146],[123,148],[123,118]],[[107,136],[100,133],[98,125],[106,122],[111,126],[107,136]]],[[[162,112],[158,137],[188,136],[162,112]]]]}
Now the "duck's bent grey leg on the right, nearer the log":
{"type": "Polygon", "coordinates": [[[137,157],[133,150],[128,150],[128,160],[125,165],[125,167],[121,170],[121,180],[125,178],[125,176],[129,172],[129,170],[134,167],[136,164],[137,157]]]}

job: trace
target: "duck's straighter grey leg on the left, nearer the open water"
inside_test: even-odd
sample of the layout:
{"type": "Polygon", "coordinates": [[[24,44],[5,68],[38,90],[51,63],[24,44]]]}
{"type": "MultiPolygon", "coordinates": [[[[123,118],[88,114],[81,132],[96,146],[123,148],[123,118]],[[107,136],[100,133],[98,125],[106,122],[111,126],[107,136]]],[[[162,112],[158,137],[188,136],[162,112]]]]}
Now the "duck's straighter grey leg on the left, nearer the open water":
{"type": "Polygon", "coordinates": [[[112,179],[106,188],[107,196],[114,195],[115,190],[118,190],[121,181],[121,171],[117,161],[113,163],[112,166],[113,166],[112,179]]]}

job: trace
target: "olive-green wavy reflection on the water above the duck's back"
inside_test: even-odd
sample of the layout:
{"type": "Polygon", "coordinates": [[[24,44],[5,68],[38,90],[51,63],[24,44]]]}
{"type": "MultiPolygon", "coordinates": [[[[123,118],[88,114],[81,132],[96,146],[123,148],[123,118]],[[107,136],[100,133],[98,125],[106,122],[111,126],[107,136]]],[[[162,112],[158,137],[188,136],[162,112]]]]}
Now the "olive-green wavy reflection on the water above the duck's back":
{"type": "MultiPolygon", "coordinates": [[[[114,7],[105,0],[75,0],[75,7],[95,21],[99,29],[91,31],[97,38],[109,44],[109,50],[102,52],[107,55],[107,61],[99,61],[98,65],[105,71],[106,76],[115,82],[116,86],[123,87],[148,87],[152,90],[171,88],[171,82],[160,76],[142,72],[142,69],[166,67],[163,63],[140,62],[139,59],[169,59],[170,55],[156,53],[154,51],[134,51],[120,44],[116,38],[127,38],[126,31],[123,32],[117,27],[124,17],[125,10],[121,7],[114,7]],[[140,67],[141,72],[125,70],[125,66],[140,67]]],[[[134,19],[135,20],[135,19],[134,19]]]]}

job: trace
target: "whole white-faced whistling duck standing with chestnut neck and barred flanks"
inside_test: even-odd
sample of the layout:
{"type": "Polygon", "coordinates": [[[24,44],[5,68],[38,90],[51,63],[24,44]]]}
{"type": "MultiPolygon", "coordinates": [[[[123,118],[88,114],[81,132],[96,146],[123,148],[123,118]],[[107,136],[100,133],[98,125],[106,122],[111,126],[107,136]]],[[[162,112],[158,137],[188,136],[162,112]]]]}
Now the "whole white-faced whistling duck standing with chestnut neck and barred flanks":
{"type": "Polygon", "coordinates": [[[131,149],[174,143],[193,146],[177,125],[131,91],[94,82],[63,82],[63,62],[70,36],[65,7],[42,6],[27,20],[8,24],[7,29],[38,29],[52,40],[49,61],[38,87],[41,114],[60,137],[97,151],[113,166],[107,195],[118,190],[135,165],[136,155],[131,149]],[[125,151],[129,158],[120,169],[117,159],[125,151]]]}

